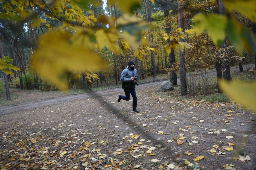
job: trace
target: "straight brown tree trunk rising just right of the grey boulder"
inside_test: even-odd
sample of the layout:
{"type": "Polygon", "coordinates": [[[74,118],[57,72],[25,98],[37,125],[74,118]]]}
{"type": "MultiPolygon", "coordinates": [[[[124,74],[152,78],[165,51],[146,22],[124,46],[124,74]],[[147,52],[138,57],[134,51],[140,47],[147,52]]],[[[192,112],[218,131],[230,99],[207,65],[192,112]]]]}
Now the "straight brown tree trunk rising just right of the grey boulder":
{"type": "MultiPolygon", "coordinates": [[[[178,22],[179,28],[182,28],[184,31],[184,13],[183,13],[183,6],[179,3],[178,4],[178,22]]],[[[179,39],[180,41],[184,41],[182,38],[179,39]]],[[[181,96],[187,95],[187,77],[186,77],[186,69],[185,69],[185,50],[182,52],[180,50],[180,74],[181,74],[181,96]]]]}

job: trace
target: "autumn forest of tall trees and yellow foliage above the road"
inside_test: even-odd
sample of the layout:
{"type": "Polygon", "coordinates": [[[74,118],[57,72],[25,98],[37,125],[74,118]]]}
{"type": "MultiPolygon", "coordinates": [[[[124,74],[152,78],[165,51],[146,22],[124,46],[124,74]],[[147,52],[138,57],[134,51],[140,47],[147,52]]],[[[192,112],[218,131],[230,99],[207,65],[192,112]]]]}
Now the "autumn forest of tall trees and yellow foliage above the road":
{"type": "Polygon", "coordinates": [[[139,80],[168,74],[178,85],[178,74],[181,95],[194,95],[198,83],[193,73],[207,90],[209,70],[231,80],[230,65],[242,71],[243,64],[255,62],[255,12],[247,10],[252,14],[246,16],[246,10],[233,10],[239,5],[253,10],[255,2],[232,3],[235,7],[226,10],[220,0],[133,0],[126,5],[114,0],[1,0],[1,70],[12,70],[6,77],[13,88],[83,89],[118,84],[127,62],[135,60],[139,80]],[[232,26],[239,30],[229,31],[232,26]],[[219,36],[223,30],[224,38],[219,36]]]}

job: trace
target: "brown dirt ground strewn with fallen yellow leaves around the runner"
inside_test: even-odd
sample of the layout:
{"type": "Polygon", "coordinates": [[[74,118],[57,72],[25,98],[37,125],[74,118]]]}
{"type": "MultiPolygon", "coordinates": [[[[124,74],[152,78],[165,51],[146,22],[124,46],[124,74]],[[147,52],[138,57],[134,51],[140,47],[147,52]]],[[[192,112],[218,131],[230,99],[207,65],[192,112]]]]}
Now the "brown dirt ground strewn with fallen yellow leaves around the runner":
{"type": "Polygon", "coordinates": [[[161,83],[136,87],[139,113],[132,99],[117,102],[121,88],[17,90],[27,102],[0,107],[1,170],[256,169],[255,113],[232,101],[175,98],[180,87],[162,92],[161,83]]]}

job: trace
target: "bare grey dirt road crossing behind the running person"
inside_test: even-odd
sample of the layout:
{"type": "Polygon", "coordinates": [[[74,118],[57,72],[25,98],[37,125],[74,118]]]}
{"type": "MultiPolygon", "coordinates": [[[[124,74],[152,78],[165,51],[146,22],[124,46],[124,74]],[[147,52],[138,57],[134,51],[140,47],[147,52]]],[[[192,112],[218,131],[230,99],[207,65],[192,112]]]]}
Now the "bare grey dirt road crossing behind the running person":
{"type": "MultiPolygon", "coordinates": [[[[251,66],[245,65],[243,67],[244,67],[244,69],[246,69],[251,66]]],[[[238,69],[236,69],[235,67],[232,67],[232,68],[230,68],[230,70],[238,70],[238,69]]],[[[216,75],[216,72],[209,72],[208,75],[216,75]]],[[[180,78],[178,78],[177,81],[180,81],[180,78]]],[[[162,83],[163,83],[163,81],[140,84],[139,86],[136,87],[136,89],[160,86],[162,83]]],[[[110,95],[113,93],[123,93],[123,89],[121,89],[121,88],[106,89],[106,90],[90,92],[90,93],[67,95],[67,96],[62,96],[62,97],[55,97],[55,98],[50,98],[50,99],[47,98],[47,99],[43,99],[43,100],[29,101],[29,102],[13,104],[13,105],[8,105],[8,106],[1,106],[0,107],[0,115],[17,112],[20,110],[28,110],[28,109],[32,109],[32,108],[39,108],[39,107],[45,107],[45,106],[49,106],[49,105],[59,104],[60,102],[64,102],[64,101],[66,102],[66,101],[79,100],[79,99],[88,98],[91,96],[106,96],[106,95],[110,95]]]]}

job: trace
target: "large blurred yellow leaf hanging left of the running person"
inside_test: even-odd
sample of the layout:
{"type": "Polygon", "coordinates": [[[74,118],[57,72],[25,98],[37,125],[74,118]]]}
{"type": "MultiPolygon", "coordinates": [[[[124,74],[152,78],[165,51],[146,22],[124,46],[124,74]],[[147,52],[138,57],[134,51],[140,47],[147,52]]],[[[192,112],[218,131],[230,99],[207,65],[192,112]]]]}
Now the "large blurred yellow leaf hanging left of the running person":
{"type": "Polygon", "coordinates": [[[55,31],[44,34],[38,41],[38,48],[32,56],[33,69],[43,79],[62,90],[67,89],[66,76],[70,70],[82,71],[85,68],[95,70],[105,65],[90,49],[69,44],[70,36],[66,32],[55,31]]]}

